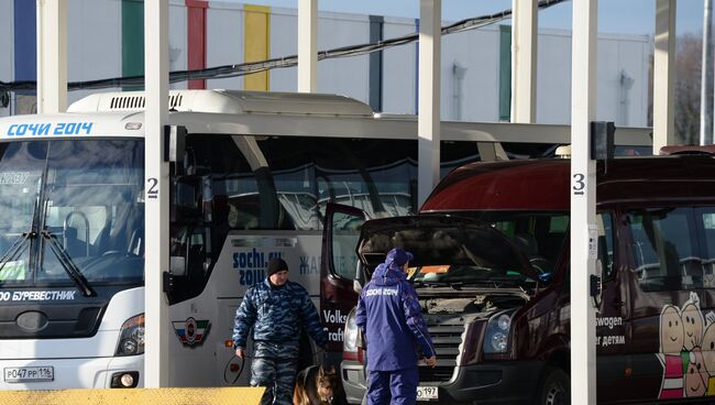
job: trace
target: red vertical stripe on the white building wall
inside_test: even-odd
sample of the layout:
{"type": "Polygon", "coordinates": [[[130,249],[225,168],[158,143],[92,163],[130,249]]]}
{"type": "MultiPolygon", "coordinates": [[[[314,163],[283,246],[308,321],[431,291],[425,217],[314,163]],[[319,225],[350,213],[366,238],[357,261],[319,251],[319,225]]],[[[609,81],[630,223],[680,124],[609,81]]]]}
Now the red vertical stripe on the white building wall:
{"type": "MultiPolygon", "coordinates": [[[[186,0],[187,61],[189,70],[206,68],[206,9],[208,1],[186,0]]],[[[206,80],[189,80],[190,89],[205,89],[206,80]]]]}

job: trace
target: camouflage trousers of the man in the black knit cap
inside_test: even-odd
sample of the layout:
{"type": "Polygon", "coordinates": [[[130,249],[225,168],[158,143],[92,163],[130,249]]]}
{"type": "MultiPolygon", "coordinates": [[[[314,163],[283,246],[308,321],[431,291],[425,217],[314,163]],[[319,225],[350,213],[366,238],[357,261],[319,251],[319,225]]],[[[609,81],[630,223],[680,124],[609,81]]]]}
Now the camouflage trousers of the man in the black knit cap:
{"type": "Polygon", "coordinates": [[[293,405],[298,349],[298,342],[253,343],[251,386],[265,386],[261,405],[293,405]]]}

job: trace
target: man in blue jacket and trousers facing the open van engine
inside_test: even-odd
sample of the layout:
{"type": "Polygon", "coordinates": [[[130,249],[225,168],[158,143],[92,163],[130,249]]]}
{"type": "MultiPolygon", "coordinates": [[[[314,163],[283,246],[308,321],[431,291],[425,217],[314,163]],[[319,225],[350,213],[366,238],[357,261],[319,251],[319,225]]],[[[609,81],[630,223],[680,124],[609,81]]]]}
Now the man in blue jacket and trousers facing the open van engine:
{"type": "Polygon", "coordinates": [[[437,364],[417,293],[407,282],[410,260],[411,253],[391,250],[358,300],[355,322],[367,340],[370,405],[417,402],[418,349],[427,365],[437,364]]]}

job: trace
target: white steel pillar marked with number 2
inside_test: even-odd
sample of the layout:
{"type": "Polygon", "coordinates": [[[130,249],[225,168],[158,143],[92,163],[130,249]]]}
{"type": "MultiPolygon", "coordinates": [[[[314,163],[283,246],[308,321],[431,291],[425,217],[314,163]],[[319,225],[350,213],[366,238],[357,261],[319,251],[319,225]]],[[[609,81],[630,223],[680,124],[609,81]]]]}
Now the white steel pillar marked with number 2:
{"type": "Polygon", "coordinates": [[[168,386],[168,303],[163,273],[168,271],[168,163],[164,124],[168,120],[168,0],[144,2],[144,385],[168,386]]]}

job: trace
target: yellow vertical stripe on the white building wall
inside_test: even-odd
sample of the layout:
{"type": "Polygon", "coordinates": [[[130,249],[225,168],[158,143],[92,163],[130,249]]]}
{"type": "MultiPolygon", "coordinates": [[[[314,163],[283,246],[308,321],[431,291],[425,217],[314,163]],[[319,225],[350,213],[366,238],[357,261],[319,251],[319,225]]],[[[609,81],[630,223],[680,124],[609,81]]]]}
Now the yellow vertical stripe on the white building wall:
{"type": "MultiPolygon", "coordinates": [[[[265,61],[270,55],[271,8],[245,4],[243,7],[243,62],[265,61]]],[[[268,72],[246,75],[246,90],[268,90],[268,72]]]]}

